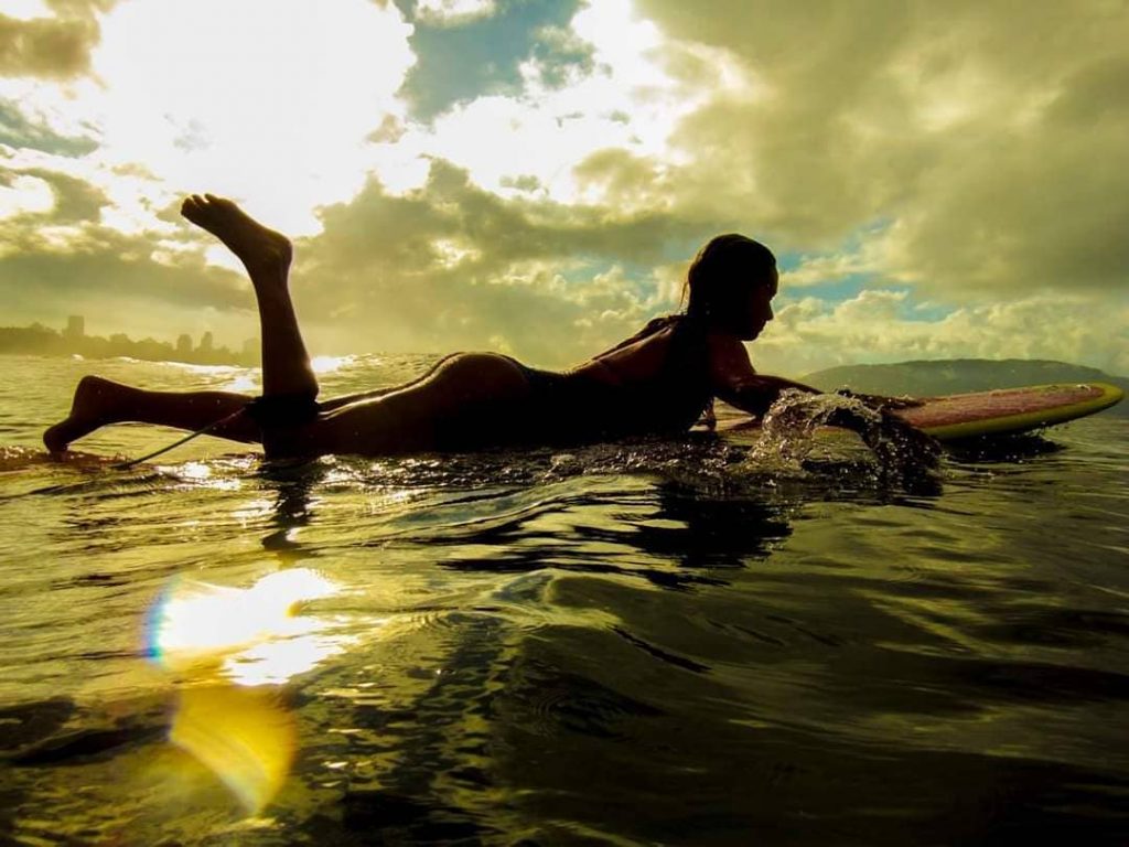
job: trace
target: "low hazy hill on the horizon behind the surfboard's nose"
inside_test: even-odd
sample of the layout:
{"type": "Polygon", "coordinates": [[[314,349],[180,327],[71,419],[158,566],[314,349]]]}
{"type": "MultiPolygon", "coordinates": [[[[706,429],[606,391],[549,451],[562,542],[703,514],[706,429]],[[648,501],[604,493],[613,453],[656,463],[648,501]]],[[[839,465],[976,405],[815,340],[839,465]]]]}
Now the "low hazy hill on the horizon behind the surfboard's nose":
{"type": "MultiPolygon", "coordinates": [[[[1111,383],[1129,393],[1129,378],[1097,368],[1042,359],[940,359],[895,365],[846,365],[808,374],[803,382],[825,391],[843,386],[867,394],[933,396],[1044,383],[1111,383]]],[[[1129,417],[1129,400],[1110,413],[1129,417]]]]}

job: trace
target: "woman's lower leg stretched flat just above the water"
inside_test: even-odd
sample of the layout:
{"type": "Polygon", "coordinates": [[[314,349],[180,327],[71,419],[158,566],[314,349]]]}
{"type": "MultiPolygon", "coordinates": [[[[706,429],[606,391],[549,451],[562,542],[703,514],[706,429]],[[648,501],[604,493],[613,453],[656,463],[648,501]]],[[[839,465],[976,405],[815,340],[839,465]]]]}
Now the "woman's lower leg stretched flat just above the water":
{"type": "Polygon", "coordinates": [[[70,416],[44,433],[43,443],[58,453],[107,424],[137,421],[195,431],[222,421],[209,435],[256,444],[259,427],[246,414],[236,414],[250,400],[245,394],[226,391],[143,391],[85,376],[75,390],[70,416]]]}

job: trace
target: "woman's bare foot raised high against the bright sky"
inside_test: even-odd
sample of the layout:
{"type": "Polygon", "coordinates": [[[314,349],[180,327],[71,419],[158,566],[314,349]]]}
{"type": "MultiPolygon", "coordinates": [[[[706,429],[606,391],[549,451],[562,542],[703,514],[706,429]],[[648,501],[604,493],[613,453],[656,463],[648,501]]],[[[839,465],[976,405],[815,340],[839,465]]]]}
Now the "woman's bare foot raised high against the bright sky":
{"type": "Polygon", "coordinates": [[[181,215],[224,242],[246,267],[256,286],[264,279],[286,280],[294,256],[290,239],[268,229],[230,200],[215,194],[192,194],[181,204],[181,215]]]}

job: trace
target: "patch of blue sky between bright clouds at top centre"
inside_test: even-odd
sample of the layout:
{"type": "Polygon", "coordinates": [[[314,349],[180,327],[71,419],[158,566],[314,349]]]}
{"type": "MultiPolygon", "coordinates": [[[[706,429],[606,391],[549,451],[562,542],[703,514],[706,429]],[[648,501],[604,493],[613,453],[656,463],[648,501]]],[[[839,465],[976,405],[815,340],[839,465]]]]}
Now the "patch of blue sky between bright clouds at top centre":
{"type": "Polygon", "coordinates": [[[548,84],[592,67],[590,49],[567,28],[578,0],[500,0],[496,14],[455,26],[414,19],[414,3],[397,6],[415,26],[417,63],[401,93],[420,120],[485,94],[520,91],[518,66],[531,58],[548,84]]]}

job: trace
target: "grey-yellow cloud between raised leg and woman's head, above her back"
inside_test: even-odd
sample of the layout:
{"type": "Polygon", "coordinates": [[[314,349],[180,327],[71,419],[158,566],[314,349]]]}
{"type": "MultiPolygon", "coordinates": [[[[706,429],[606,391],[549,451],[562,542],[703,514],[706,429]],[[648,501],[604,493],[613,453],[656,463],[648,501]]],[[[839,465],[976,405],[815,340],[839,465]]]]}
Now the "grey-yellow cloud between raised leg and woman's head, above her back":
{"type": "Polygon", "coordinates": [[[693,232],[665,213],[616,217],[504,199],[440,159],[423,186],[370,182],[321,211],[295,290],[318,349],[435,351],[490,342],[546,365],[592,355],[669,311],[660,272],[693,232]],[[646,269],[646,270],[641,270],[646,269]]]}

